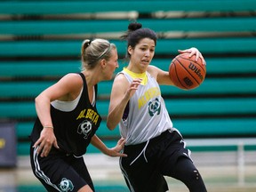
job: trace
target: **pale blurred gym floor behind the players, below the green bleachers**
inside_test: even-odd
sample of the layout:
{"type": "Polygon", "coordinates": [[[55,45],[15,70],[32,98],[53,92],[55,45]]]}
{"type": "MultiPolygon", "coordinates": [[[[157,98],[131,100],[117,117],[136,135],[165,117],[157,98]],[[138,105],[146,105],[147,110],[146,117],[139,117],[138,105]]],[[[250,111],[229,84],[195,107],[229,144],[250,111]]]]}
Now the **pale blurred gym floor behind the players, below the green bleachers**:
{"type": "MultiPolygon", "coordinates": [[[[255,192],[256,153],[244,154],[244,165],[237,164],[236,152],[192,153],[208,192],[255,192]]],[[[85,155],[97,192],[129,192],[119,170],[118,158],[100,154],[85,155]]],[[[179,180],[166,178],[171,192],[188,192],[179,180]]],[[[0,168],[0,192],[44,192],[33,175],[28,156],[20,156],[16,168],[0,168]]]]}

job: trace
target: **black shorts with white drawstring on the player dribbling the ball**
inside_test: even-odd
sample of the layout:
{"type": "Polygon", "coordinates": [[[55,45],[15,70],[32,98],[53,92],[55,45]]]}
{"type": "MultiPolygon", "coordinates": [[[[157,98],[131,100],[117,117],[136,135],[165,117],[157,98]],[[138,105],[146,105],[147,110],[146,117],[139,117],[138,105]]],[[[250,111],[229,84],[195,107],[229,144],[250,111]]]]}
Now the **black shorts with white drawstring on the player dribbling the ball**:
{"type": "Polygon", "coordinates": [[[128,156],[120,158],[120,168],[127,186],[135,192],[167,191],[164,175],[172,176],[177,159],[185,156],[192,162],[190,151],[176,131],[166,131],[148,142],[125,146],[124,154],[128,156]]]}

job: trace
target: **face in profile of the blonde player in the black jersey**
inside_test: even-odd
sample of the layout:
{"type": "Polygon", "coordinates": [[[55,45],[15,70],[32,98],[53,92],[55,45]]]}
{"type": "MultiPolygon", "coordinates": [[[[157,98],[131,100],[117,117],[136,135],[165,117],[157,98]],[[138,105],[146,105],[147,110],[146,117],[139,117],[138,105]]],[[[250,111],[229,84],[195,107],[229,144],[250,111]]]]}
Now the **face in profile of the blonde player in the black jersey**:
{"type": "Polygon", "coordinates": [[[103,67],[105,80],[110,80],[116,68],[119,68],[117,60],[118,60],[117,51],[116,49],[112,49],[111,57],[109,58],[109,60],[105,60],[105,65],[103,67]]]}

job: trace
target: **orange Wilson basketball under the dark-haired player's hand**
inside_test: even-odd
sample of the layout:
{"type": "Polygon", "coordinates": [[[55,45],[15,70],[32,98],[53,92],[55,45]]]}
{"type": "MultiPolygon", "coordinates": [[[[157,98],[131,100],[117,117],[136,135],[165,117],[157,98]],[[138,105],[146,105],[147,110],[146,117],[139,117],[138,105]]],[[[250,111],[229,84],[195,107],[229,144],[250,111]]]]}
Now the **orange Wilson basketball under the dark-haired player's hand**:
{"type": "Polygon", "coordinates": [[[196,62],[196,55],[191,58],[189,53],[177,55],[169,67],[169,76],[173,84],[183,90],[191,90],[204,82],[206,68],[199,58],[196,62]]]}

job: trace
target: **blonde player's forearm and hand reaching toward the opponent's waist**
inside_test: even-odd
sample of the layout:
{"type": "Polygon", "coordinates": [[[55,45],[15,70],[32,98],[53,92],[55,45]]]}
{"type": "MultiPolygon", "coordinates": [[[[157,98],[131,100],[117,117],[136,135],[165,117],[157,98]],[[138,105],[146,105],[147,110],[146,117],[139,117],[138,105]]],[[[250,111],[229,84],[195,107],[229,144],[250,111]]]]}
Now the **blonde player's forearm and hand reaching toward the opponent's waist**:
{"type": "Polygon", "coordinates": [[[107,148],[107,146],[102,142],[102,140],[100,140],[100,138],[96,134],[92,137],[91,143],[95,148],[99,148],[100,151],[107,156],[126,156],[125,154],[120,153],[120,151],[124,148],[124,138],[118,140],[116,147],[114,148],[107,148]]]}

